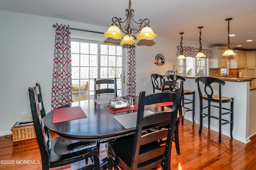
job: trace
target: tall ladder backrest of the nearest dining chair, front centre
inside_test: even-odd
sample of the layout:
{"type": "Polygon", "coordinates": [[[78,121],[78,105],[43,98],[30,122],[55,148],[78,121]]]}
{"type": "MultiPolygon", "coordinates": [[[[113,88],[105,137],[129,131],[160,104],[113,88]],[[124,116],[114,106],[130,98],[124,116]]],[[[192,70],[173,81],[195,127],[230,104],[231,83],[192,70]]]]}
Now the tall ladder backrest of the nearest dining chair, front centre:
{"type": "Polygon", "coordinates": [[[159,92],[147,96],[145,96],[145,92],[140,92],[131,162],[131,166],[134,167],[131,167],[131,169],[137,169],[138,164],[142,164],[143,162],[153,164],[156,160],[157,162],[160,162],[158,162],[159,164],[161,164],[161,161],[166,161],[168,162],[167,164],[169,164],[166,166],[170,166],[170,154],[174,131],[176,129],[176,118],[179,106],[178,101],[180,99],[179,94],[180,88],[176,89],[175,92],[159,92]],[[156,112],[144,117],[145,106],[161,102],[173,102],[172,109],[170,108],[170,110],[156,112]],[[166,123],[166,121],[170,121],[169,128],[159,129],[146,135],[142,135],[142,131],[148,125],[166,123]],[[164,139],[165,137],[167,137],[167,139],[164,141],[164,145],[160,145],[160,139],[164,139]],[[139,154],[140,147],[142,146],[150,147],[144,154],[139,154]]]}

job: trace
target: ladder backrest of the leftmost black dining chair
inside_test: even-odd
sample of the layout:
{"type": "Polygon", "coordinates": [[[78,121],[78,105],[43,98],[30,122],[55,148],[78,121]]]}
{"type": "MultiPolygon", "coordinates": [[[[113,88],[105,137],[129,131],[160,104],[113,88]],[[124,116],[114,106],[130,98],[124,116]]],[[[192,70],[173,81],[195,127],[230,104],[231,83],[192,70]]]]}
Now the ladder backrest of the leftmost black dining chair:
{"type": "MultiPolygon", "coordinates": [[[[36,84],[36,87],[28,88],[29,98],[30,98],[30,107],[32,112],[32,118],[34,122],[34,128],[36,132],[36,137],[38,141],[38,145],[41,152],[41,158],[42,158],[42,164],[43,165],[49,165],[49,154],[48,154],[48,146],[51,144],[51,133],[50,130],[47,129],[44,126],[44,116],[42,115],[42,109],[40,109],[40,106],[42,105],[37,102],[38,98],[38,87],[39,84],[36,84]],[[40,110],[41,110],[41,116],[40,116],[40,110]]],[[[42,96],[41,96],[42,99],[42,96]]]]}

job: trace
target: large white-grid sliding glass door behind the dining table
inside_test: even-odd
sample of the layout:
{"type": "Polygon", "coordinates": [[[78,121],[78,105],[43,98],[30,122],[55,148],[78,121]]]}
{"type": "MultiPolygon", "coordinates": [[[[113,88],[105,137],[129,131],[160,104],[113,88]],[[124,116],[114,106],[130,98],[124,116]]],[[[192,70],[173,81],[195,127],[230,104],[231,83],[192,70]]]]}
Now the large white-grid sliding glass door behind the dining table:
{"type": "Polygon", "coordinates": [[[123,58],[121,45],[72,39],[73,102],[94,98],[94,78],[116,78],[118,96],[121,96],[123,58]]]}

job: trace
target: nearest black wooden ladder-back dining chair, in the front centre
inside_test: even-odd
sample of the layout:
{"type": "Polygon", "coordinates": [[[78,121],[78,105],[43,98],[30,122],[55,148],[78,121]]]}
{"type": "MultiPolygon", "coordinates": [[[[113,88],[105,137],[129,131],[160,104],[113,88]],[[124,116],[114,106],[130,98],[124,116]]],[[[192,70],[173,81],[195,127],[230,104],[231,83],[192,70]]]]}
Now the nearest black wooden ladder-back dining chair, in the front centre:
{"type": "Polygon", "coordinates": [[[180,89],[147,96],[145,92],[140,92],[135,134],[108,142],[109,170],[113,166],[114,169],[120,167],[122,170],[149,170],[160,164],[164,170],[170,170],[179,98],[180,89]],[[145,106],[161,102],[173,102],[172,109],[144,117],[145,106]],[[163,124],[166,121],[170,121],[169,128],[142,134],[149,125],[163,124]],[[166,140],[161,140],[166,137],[166,140]]]}

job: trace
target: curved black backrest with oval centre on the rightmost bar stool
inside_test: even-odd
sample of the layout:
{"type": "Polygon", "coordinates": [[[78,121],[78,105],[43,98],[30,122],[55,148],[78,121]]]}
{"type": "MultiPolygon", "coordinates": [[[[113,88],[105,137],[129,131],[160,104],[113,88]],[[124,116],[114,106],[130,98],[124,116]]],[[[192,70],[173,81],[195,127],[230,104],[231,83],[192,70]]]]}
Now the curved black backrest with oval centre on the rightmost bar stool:
{"type": "Polygon", "coordinates": [[[219,78],[214,78],[214,77],[198,77],[196,78],[196,83],[197,83],[197,88],[198,88],[198,93],[200,98],[202,98],[203,96],[202,92],[204,92],[207,95],[207,98],[212,98],[212,96],[214,95],[214,88],[215,89],[217,88],[213,86],[213,83],[218,84],[218,91],[219,91],[218,96],[220,96],[221,98],[221,86],[225,84],[223,80],[220,80],[219,78]],[[199,82],[201,82],[203,86],[200,85],[199,82]]]}

